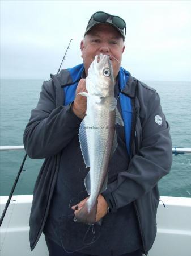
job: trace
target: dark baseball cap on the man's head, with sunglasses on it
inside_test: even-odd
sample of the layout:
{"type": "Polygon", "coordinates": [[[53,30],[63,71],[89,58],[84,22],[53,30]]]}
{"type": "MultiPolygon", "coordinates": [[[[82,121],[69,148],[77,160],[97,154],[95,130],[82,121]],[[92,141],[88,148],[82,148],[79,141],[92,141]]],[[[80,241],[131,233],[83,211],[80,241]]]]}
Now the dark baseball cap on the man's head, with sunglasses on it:
{"type": "Polygon", "coordinates": [[[120,32],[123,39],[125,39],[126,34],[126,23],[125,20],[120,18],[119,16],[111,15],[105,13],[104,11],[97,11],[94,13],[86,27],[86,32],[84,36],[91,30],[91,28],[95,27],[97,24],[110,24],[112,27],[116,28],[118,32],[120,32]]]}

